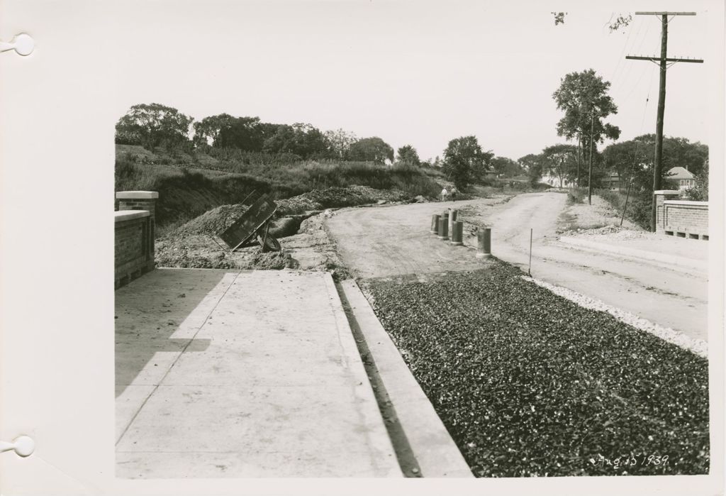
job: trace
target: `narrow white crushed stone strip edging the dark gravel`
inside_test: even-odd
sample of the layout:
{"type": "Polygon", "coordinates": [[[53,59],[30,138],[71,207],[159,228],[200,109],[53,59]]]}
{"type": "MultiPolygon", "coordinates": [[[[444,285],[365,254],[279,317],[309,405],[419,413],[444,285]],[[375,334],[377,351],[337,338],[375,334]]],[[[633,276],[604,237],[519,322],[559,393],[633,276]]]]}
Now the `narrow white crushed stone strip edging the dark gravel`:
{"type": "Polygon", "coordinates": [[[534,277],[528,277],[524,275],[521,277],[523,280],[534,282],[534,284],[541,286],[542,288],[547,288],[548,290],[552,291],[552,293],[555,293],[558,296],[562,296],[569,301],[573,301],[579,306],[582,306],[586,309],[607,312],[608,314],[611,314],[613,317],[615,317],[617,320],[624,322],[627,325],[632,325],[632,327],[636,329],[644,330],[646,333],[658,336],[658,338],[661,338],[662,340],[672,343],[676,346],[679,346],[682,349],[687,349],[688,351],[697,354],[699,357],[708,358],[709,345],[708,343],[706,343],[706,341],[696,338],[690,338],[688,336],[685,336],[685,334],[677,332],[676,330],[666,328],[662,325],[658,325],[655,322],[650,322],[650,320],[645,320],[635,314],[625,312],[624,310],[605,304],[603,301],[596,300],[595,298],[590,298],[589,296],[584,296],[580,293],[576,293],[573,290],[563,288],[562,286],[557,286],[554,284],[550,284],[550,282],[544,282],[543,280],[534,279],[534,277]]]}

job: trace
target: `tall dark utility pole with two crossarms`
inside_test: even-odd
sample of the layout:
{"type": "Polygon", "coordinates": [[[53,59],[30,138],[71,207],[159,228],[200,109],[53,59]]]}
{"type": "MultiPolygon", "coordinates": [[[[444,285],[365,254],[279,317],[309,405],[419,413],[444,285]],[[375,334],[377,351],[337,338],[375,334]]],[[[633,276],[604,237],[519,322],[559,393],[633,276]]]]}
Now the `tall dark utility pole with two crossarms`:
{"type": "MultiPolygon", "coordinates": [[[[658,90],[658,118],[656,118],[656,160],[653,164],[653,191],[661,189],[661,175],[663,170],[663,115],[666,108],[666,70],[676,62],[703,63],[701,59],[669,58],[666,54],[668,45],[668,16],[696,15],[696,12],[635,12],[635,15],[657,15],[661,17],[661,56],[635,57],[627,55],[630,60],[650,60],[656,62],[661,68],[661,80],[658,90]]],[[[650,230],[656,232],[656,198],[653,196],[650,208],[650,230]]]]}

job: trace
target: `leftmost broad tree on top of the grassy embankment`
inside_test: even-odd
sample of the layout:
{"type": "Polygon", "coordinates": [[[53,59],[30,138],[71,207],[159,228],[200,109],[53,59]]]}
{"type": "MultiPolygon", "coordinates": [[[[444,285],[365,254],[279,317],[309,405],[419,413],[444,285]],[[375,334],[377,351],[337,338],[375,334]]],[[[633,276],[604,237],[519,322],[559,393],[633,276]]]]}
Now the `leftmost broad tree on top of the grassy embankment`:
{"type": "Polygon", "coordinates": [[[158,103],[142,103],[129,108],[116,123],[115,142],[142,145],[147,150],[179,147],[189,140],[193,118],[158,103]]]}

